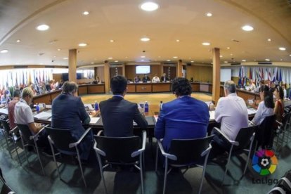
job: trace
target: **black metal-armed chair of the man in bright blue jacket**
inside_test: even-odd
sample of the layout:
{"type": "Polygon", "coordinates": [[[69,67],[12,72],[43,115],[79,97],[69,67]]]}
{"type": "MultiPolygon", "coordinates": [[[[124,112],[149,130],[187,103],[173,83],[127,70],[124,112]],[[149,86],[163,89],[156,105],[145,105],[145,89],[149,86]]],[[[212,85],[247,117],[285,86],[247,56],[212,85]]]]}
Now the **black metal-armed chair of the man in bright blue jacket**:
{"type": "MultiPolygon", "coordinates": [[[[157,140],[157,155],[155,159],[155,171],[157,172],[157,158],[159,153],[159,148],[162,155],[165,157],[165,164],[164,164],[164,188],[163,192],[166,192],[166,183],[167,183],[167,175],[171,172],[172,167],[186,167],[186,171],[190,167],[202,167],[202,177],[200,181],[200,188],[199,192],[201,193],[203,179],[205,176],[206,165],[208,155],[211,150],[210,141],[212,140],[213,136],[207,136],[205,138],[194,138],[194,139],[173,139],[171,141],[171,145],[169,148],[169,153],[164,151],[162,147],[162,143],[160,140],[157,140]],[[198,164],[198,161],[204,157],[203,164],[198,164]],[[168,171],[168,166],[170,167],[168,171]]],[[[185,172],[186,172],[185,171],[185,172]]],[[[184,173],[185,173],[184,172],[184,173]]]]}

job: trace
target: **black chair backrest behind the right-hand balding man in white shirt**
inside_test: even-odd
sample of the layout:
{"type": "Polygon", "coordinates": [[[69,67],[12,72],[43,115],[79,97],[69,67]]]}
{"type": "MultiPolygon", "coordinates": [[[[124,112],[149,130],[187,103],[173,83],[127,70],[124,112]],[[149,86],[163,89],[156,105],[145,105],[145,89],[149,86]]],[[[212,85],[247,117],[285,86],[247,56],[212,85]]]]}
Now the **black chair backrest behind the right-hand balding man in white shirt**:
{"type": "Polygon", "coordinates": [[[250,138],[252,134],[257,130],[257,125],[251,127],[245,127],[238,131],[238,135],[235,138],[235,141],[238,141],[239,145],[237,148],[246,148],[250,144],[250,138]]]}

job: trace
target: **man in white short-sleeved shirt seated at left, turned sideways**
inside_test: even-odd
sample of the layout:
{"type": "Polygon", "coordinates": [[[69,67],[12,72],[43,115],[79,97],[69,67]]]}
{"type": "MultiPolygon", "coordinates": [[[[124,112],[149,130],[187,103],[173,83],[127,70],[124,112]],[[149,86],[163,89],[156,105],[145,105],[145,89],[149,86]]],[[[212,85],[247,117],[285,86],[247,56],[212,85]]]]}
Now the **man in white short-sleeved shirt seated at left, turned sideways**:
{"type": "MultiPolygon", "coordinates": [[[[15,123],[26,124],[30,128],[32,135],[37,134],[43,128],[41,124],[34,122],[32,109],[30,108],[30,103],[32,103],[33,95],[34,93],[30,87],[26,87],[25,89],[23,89],[20,101],[15,104],[14,109],[15,123]]],[[[45,130],[41,131],[37,140],[37,145],[39,147],[43,147],[45,153],[51,154],[51,147],[48,143],[47,136],[48,135],[46,134],[45,130]]]]}

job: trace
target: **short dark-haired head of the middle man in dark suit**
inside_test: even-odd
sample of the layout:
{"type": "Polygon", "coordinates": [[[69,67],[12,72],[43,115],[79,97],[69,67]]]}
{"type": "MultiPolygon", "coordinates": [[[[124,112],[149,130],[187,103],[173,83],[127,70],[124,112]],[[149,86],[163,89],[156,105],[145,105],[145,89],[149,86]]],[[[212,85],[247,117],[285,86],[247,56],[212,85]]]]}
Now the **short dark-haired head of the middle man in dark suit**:
{"type": "Polygon", "coordinates": [[[110,88],[114,95],[124,96],[127,93],[127,78],[116,75],[110,79],[110,88]]]}

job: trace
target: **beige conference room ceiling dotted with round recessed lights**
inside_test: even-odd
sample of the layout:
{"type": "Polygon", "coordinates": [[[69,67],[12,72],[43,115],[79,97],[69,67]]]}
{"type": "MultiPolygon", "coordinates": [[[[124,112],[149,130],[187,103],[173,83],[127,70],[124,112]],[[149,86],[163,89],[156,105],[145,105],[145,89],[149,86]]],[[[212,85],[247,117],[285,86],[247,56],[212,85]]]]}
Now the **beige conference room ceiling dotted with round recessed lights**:
{"type": "Polygon", "coordinates": [[[215,47],[221,63],[291,63],[287,0],[153,1],[160,7],[146,12],[144,1],[134,0],[0,0],[0,65],[67,65],[72,48],[78,66],[104,60],[210,64],[215,47]],[[41,24],[50,28],[36,30],[41,24]],[[254,30],[245,32],[244,25],[254,30]]]}

